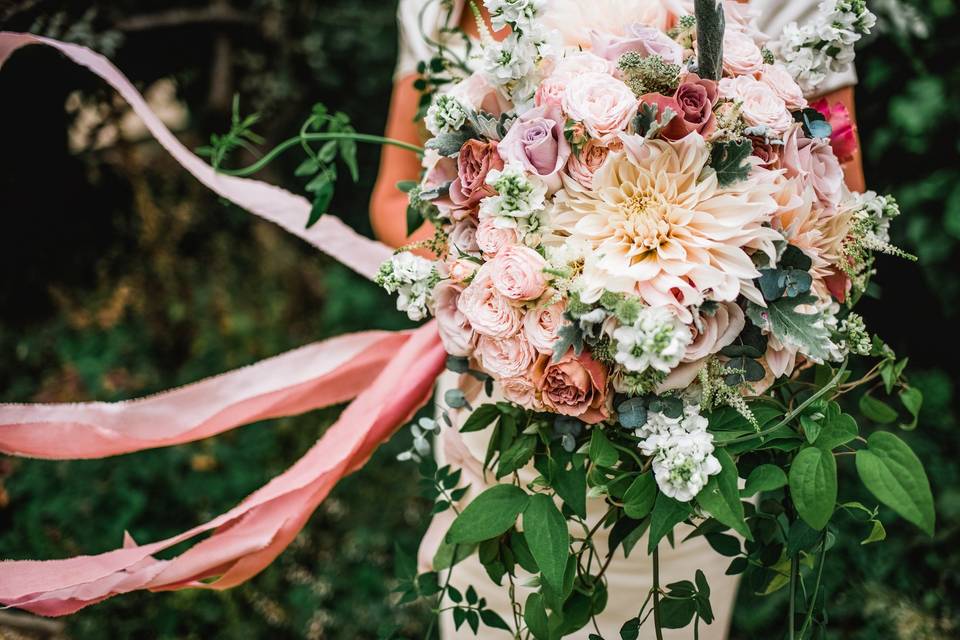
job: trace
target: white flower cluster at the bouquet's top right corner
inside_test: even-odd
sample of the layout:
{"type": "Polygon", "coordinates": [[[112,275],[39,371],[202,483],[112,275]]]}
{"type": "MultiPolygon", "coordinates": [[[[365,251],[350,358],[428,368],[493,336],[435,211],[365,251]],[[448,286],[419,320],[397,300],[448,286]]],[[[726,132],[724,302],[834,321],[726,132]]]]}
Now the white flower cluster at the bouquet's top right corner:
{"type": "Polygon", "coordinates": [[[854,44],[870,33],[876,22],[865,0],[824,0],[812,22],[787,25],[776,48],[787,71],[811,93],[830,72],[847,70],[853,62],[854,44]]]}

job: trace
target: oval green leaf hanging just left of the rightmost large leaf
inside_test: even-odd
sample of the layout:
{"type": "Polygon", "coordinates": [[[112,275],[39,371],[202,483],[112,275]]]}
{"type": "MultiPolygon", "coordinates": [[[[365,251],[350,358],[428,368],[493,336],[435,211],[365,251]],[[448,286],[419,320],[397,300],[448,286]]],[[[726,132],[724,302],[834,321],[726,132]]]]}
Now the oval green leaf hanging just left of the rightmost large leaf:
{"type": "Polygon", "coordinates": [[[837,503],[837,461],[819,447],[807,447],[790,465],[790,495],[800,517],[814,529],[827,526],[837,503]]]}

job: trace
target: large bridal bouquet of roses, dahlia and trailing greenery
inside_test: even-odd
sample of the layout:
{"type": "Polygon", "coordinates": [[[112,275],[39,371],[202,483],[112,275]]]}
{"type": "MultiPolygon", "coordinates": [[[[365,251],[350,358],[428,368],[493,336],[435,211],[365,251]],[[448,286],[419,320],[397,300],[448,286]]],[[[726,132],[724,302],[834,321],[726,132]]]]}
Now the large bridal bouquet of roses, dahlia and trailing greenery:
{"type": "MultiPolygon", "coordinates": [[[[444,422],[491,430],[485,467],[502,484],[458,509],[443,564],[479,548],[497,583],[517,565],[536,575],[507,626],[537,639],[603,610],[608,563],[594,558],[629,553],[646,533],[657,567],[658,544],[684,521],[757,592],[789,588],[790,637],[812,633],[834,536],[883,538],[875,508],[841,501],[838,461],[933,530],[916,456],[890,432],[861,435],[838,402],[869,385],[863,413],[889,423],[897,411],[874,394],[899,390],[902,426],[916,425],[905,361],[853,311],[874,252],[903,255],[888,236],[899,210],[844,186],[849,114],[808,103],[798,84],[849,63],[873,16],[831,0],[819,27],[793,25],[778,46],[735,3],[713,4],[582,42],[570,16],[537,0],[486,2],[511,33],[495,42],[480,23],[476,71],[431,96],[422,180],[401,185],[411,231],[426,220],[436,233],[397,252],[378,282],[412,319],[436,317],[448,368],[488,394],[448,390],[468,417],[421,421],[404,457],[423,459],[425,432],[444,422]],[[876,362],[857,380],[854,356],[876,362]],[[524,485],[528,465],[538,475],[524,485]],[[596,523],[588,497],[605,503],[596,523]],[[591,542],[601,527],[609,549],[591,542]],[[816,584],[798,603],[801,567],[816,584]]],[[[423,467],[436,511],[457,509],[451,470],[423,467]]],[[[450,578],[439,584],[460,602],[450,578]]],[[[654,585],[624,638],[650,614],[658,631],[711,622],[703,573],[654,585]]],[[[474,604],[455,605],[458,626],[476,630],[474,604]]]]}

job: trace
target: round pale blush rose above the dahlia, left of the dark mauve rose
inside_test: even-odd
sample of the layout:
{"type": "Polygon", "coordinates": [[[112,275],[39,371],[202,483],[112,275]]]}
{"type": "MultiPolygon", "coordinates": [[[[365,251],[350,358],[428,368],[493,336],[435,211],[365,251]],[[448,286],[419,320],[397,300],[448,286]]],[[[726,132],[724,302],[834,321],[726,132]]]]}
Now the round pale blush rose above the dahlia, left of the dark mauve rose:
{"type": "Polygon", "coordinates": [[[630,125],[637,113],[630,87],[605,73],[584,73],[567,85],[563,110],[583,123],[592,137],[609,143],[630,125]]]}

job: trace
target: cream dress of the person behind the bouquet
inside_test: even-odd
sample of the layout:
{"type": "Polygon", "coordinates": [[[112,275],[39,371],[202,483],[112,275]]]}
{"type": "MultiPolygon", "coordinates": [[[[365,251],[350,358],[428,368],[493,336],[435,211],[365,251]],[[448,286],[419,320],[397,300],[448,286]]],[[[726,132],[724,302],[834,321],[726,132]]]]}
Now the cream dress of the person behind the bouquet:
{"type": "MultiPolygon", "coordinates": [[[[674,0],[550,0],[551,10],[555,11],[551,15],[563,15],[560,12],[566,12],[566,19],[563,20],[563,23],[565,25],[576,25],[577,33],[565,34],[568,37],[570,35],[583,37],[590,26],[604,28],[606,22],[611,25],[614,23],[623,24],[626,20],[625,16],[628,14],[634,16],[634,20],[636,16],[642,16],[643,21],[648,24],[655,24],[659,16],[663,14],[663,8],[673,2],[674,0]]],[[[752,4],[761,11],[758,20],[761,30],[765,33],[775,34],[791,21],[802,22],[809,18],[815,13],[817,2],[818,0],[790,0],[790,2],[754,0],[752,4]]],[[[449,14],[450,25],[459,23],[463,8],[463,0],[454,0],[453,12],[449,14]]],[[[428,37],[438,40],[442,37],[440,29],[444,26],[447,17],[448,13],[441,8],[439,0],[401,0],[399,9],[400,52],[396,79],[399,80],[415,73],[417,64],[421,60],[428,60],[433,56],[431,45],[423,38],[422,34],[426,32],[428,37]]],[[[855,82],[856,76],[851,70],[847,74],[838,74],[828,78],[821,85],[820,90],[827,93],[855,82]]],[[[446,389],[458,386],[464,388],[462,384],[458,383],[459,380],[456,375],[449,372],[444,374],[440,380],[438,396],[443,397],[443,391],[446,389]]],[[[486,397],[481,393],[475,399],[474,405],[496,401],[499,399],[496,396],[496,391],[493,398],[486,397]]],[[[481,493],[495,482],[490,474],[484,473],[482,462],[490,430],[460,434],[458,426],[466,418],[466,414],[462,411],[455,411],[452,412],[451,417],[454,427],[444,427],[442,429],[435,445],[436,456],[440,465],[451,464],[454,468],[463,469],[462,482],[470,485],[470,491],[463,502],[463,504],[466,504],[473,496],[481,493]]],[[[527,483],[532,481],[537,474],[531,468],[523,470],[520,475],[521,481],[527,483]]],[[[587,512],[588,520],[591,523],[596,522],[606,512],[606,505],[600,499],[590,500],[588,501],[587,512]]],[[[431,523],[421,545],[418,558],[422,571],[431,570],[434,554],[452,520],[453,513],[447,511],[437,516],[431,523]]],[[[678,580],[692,580],[696,570],[702,569],[710,584],[710,601],[716,619],[709,626],[700,625],[700,637],[703,640],[722,640],[727,637],[730,627],[738,578],[725,575],[730,559],[715,552],[702,537],[680,544],[680,541],[689,532],[690,528],[686,525],[677,529],[675,532],[678,543],[676,548],[671,547],[666,541],[661,543],[661,583],[668,584],[678,580]]],[[[582,531],[580,533],[582,534],[582,531]]],[[[595,537],[597,548],[601,552],[604,552],[607,548],[608,534],[609,530],[602,530],[595,537]]],[[[607,570],[609,597],[606,609],[597,618],[600,633],[604,638],[620,637],[620,626],[637,615],[638,609],[651,587],[651,560],[646,554],[645,548],[646,536],[640,540],[629,558],[624,557],[621,546],[607,570]]],[[[522,571],[519,568],[518,570],[522,571]]],[[[521,576],[518,582],[522,582],[523,577],[521,576]]],[[[472,585],[479,595],[486,599],[490,608],[497,611],[505,620],[513,620],[506,588],[493,584],[476,554],[456,566],[451,584],[461,591],[472,585]]],[[[530,589],[519,587],[517,600],[524,602],[530,592],[530,589]]],[[[452,615],[449,612],[441,617],[440,631],[443,640],[476,637],[491,640],[503,638],[506,640],[511,637],[507,632],[492,630],[488,627],[481,627],[479,636],[474,635],[466,625],[457,631],[454,629],[452,615]]],[[[593,625],[589,625],[567,637],[573,640],[587,640],[589,634],[593,632],[595,632],[593,625]]],[[[641,638],[653,637],[652,623],[648,623],[641,629],[641,638]]],[[[664,637],[668,640],[692,638],[693,631],[689,627],[677,631],[667,630],[664,637]]]]}

